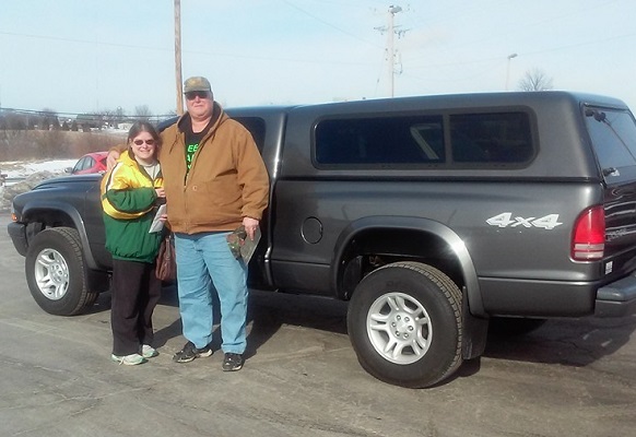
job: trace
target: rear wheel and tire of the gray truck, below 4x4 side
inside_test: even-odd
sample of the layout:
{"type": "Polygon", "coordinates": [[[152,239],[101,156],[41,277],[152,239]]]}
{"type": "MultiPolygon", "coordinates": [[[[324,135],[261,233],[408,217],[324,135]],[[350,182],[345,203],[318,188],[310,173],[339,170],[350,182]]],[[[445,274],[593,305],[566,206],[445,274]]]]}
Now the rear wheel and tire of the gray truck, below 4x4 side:
{"type": "Polygon", "coordinates": [[[360,364],[385,382],[429,387],[462,363],[461,292],[431,265],[396,262],[369,273],[346,324],[360,364]]]}

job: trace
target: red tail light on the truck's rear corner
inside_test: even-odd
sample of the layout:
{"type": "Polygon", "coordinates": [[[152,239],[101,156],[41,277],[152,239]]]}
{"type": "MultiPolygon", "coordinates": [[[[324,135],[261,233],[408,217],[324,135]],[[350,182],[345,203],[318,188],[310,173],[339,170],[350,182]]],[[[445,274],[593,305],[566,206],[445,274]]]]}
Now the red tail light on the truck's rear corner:
{"type": "Polygon", "coordinates": [[[603,258],[605,250],[605,211],[593,206],[584,211],[574,225],[572,258],[589,261],[603,258]]]}

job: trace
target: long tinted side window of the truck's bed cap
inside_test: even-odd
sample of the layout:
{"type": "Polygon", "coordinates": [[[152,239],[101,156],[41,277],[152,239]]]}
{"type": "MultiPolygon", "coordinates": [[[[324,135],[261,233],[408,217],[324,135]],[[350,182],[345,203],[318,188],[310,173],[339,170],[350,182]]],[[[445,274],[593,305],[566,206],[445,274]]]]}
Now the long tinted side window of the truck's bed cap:
{"type": "Polygon", "coordinates": [[[315,131],[318,165],[491,168],[533,155],[529,116],[520,111],[327,119],[315,131]]]}

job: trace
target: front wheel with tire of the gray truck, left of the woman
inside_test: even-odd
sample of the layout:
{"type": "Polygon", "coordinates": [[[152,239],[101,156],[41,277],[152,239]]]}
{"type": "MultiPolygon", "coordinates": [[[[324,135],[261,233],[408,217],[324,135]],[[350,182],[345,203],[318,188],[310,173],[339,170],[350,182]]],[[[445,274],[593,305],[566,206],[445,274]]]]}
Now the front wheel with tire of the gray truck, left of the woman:
{"type": "Polygon", "coordinates": [[[95,303],[86,290],[80,235],[71,227],[51,227],[35,235],[26,251],[26,282],[45,311],[73,316],[95,303]]]}

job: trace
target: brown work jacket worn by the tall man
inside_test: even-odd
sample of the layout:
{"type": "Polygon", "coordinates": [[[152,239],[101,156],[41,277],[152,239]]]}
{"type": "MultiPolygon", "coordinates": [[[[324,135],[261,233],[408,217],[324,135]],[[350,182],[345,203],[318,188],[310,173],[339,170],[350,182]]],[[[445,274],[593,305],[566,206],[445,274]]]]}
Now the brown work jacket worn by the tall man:
{"type": "Polygon", "coordinates": [[[214,103],[213,126],[186,166],[186,113],[162,132],[160,163],[168,222],[173,232],[234,231],[243,217],[262,218],[269,200],[269,176],[247,129],[214,103]]]}

